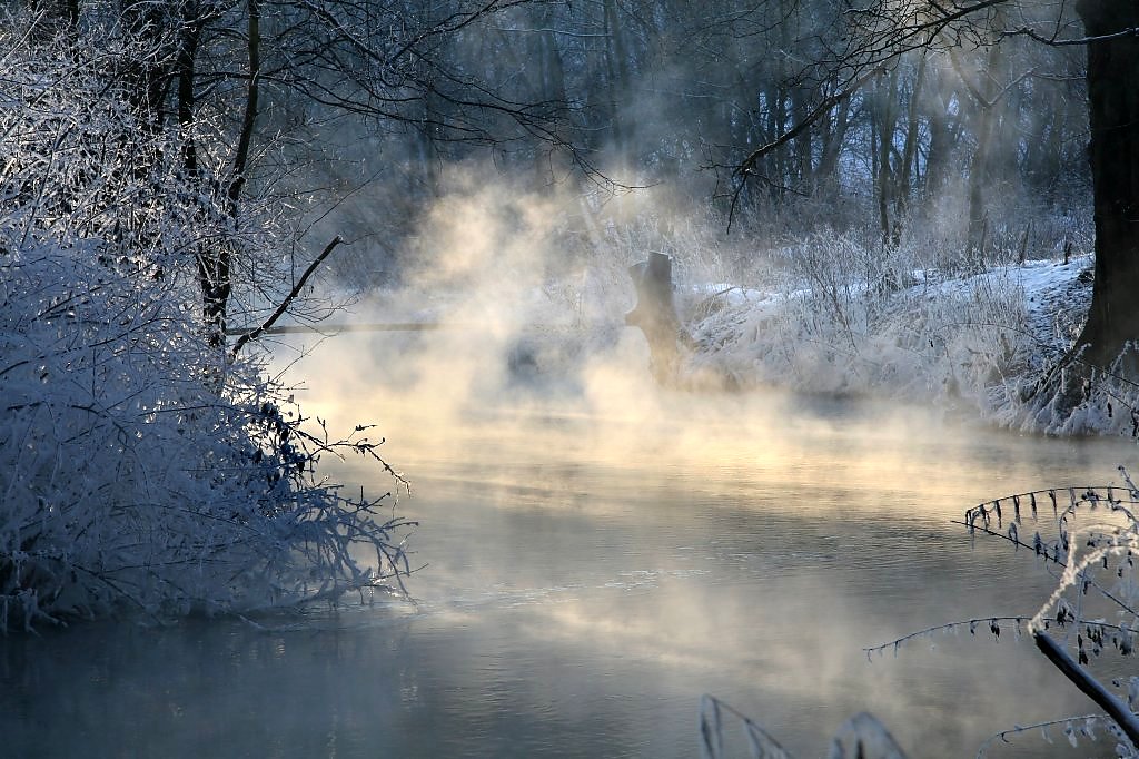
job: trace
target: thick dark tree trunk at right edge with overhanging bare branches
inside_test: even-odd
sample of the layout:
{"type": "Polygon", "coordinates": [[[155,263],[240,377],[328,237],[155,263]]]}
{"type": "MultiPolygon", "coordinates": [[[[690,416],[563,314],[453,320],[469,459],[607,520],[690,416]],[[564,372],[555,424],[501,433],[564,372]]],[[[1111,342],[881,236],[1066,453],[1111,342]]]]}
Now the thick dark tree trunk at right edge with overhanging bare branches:
{"type": "MultiPolygon", "coordinates": [[[[983,179],[992,173],[992,139],[998,131],[998,108],[1006,107],[1010,76],[1002,68],[1001,48],[1031,40],[1047,48],[1087,50],[1088,116],[1091,125],[1090,172],[1096,220],[1096,278],[1087,324],[1071,354],[1034,391],[1033,403],[1059,399],[1071,409],[1082,400],[1089,367],[1116,365],[1128,377],[1139,376],[1139,358],[1131,341],[1139,335],[1139,99],[1133,87],[1139,73],[1139,10],[1124,0],[1080,2],[1075,17],[1067,6],[1041,7],[1015,0],[954,0],[950,3],[876,0],[850,7],[842,16],[845,33],[820,44],[821,55],[803,71],[823,67],[833,79],[817,90],[816,105],[773,139],[748,153],[736,166],[736,194],[752,177],[762,174],[762,162],[800,139],[839,104],[868,83],[891,76],[912,52],[959,55],[990,50],[989,82],[984,89],[966,80],[981,108],[973,162],[970,239],[980,245],[984,199],[983,179]],[[1082,30],[1081,30],[1082,26],[1082,30]],[[1121,360],[1122,365],[1116,362],[1121,360]]],[[[1025,75],[1027,77],[1027,75],[1025,75]]],[[[931,148],[932,149],[932,148],[931,148]]],[[[1034,150],[1034,147],[1030,147],[1034,150]]]]}

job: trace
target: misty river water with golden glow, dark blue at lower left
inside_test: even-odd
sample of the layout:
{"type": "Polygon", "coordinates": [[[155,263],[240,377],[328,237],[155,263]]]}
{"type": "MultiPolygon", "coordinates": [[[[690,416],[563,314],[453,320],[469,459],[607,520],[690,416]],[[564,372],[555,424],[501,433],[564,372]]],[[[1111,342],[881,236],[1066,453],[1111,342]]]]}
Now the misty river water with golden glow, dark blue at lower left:
{"type": "MultiPolygon", "coordinates": [[[[1109,482],[1133,444],[623,387],[388,407],[322,387],[327,415],[379,418],[413,483],[415,603],[0,639],[0,756],[696,757],[710,693],[798,757],[862,710],[913,758],[961,757],[1014,724],[1092,711],[1008,634],[862,650],[1034,612],[1047,572],[951,520],[1109,482]]],[[[1051,738],[991,756],[1114,756],[1103,732],[1076,753],[1062,728],[1051,738]]]]}

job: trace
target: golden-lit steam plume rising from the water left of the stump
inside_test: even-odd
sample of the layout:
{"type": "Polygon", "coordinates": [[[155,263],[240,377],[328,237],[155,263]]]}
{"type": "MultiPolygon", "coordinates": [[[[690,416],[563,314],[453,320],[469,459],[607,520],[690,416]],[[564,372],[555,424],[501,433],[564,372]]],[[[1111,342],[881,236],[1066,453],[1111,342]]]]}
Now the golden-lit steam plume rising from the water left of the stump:
{"type": "Polygon", "coordinates": [[[615,239],[628,231],[614,223],[623,201],[591,209],[556,187],[526,194],[476,169],[453,173],[452,193],[421,218],[400,288],[368,294],[349,317],[443,328],[288,341],[279,361],[320,342],[289,375],[313,389],[306,409],[343,424],[359,409],[407,411],[444,439],[454,415],[551,399],[564,413],[657,416],[647,348],[623,324],[626,268],[649,252],[615,239]]]}

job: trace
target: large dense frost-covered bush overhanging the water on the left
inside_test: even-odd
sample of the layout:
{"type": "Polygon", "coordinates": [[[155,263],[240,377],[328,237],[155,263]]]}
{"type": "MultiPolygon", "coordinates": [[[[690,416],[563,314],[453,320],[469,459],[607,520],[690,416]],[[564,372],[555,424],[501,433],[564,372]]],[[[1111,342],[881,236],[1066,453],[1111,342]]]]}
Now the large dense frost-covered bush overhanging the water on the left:
{"type": "Polygon", "coordinates": [[[0,259],[0,630],[396,576],[401,521],[313,473],[321,452],[374,446],[306,435],[259,361],[227,360],[147,274],[82,245],[0,259]]]}

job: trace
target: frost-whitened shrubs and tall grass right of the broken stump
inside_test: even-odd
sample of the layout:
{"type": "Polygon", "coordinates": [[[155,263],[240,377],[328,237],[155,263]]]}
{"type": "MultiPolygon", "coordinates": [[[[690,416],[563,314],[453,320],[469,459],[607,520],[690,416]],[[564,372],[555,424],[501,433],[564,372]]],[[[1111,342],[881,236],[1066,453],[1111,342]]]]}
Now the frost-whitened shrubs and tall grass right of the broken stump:
{"type": "Polygon", "coordinates": [[[918,258],[851,236],[788,245],[768,283],[723,288],[695,310],[694,366],[744,386],[890,387],[895,397],[965,397],[985,406],[990,387],[1040,353],[1030,335],[1026,270],[949,279],[918,268],[918,258]]]}

